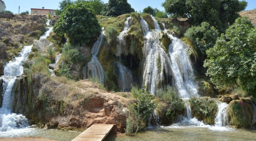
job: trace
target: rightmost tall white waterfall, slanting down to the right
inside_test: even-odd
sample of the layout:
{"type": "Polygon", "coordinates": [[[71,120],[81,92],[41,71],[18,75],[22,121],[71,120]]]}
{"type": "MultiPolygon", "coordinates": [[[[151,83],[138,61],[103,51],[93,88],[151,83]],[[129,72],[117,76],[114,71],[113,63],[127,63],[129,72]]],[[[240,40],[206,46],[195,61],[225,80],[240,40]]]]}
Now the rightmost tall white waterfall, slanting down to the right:
{"type": "Polygon", "coordinates": [[[164,32],[172,40],[172,43],[169,45],[169,54],[172,62],[170,67],[173,72],[173,84],[182,99],[199,97],[197,92],[198,86],[194,80],[194,70],[188,56],[188,48],[185,48],[184,43],[180,39],[168,34],[166,28],[164,32]]]}

